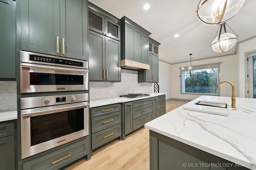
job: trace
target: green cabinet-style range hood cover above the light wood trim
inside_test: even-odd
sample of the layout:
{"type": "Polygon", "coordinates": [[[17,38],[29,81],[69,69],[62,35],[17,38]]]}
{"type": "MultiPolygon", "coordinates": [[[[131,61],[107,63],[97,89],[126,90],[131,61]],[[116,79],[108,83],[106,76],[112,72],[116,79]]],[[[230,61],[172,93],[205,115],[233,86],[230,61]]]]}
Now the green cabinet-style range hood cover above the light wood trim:
{"type": "Polygon", "coordinates": [[[121,60],[148,64],[148,39],[151,33],[126,16],[121,18],[121,29],[121,60]]]}

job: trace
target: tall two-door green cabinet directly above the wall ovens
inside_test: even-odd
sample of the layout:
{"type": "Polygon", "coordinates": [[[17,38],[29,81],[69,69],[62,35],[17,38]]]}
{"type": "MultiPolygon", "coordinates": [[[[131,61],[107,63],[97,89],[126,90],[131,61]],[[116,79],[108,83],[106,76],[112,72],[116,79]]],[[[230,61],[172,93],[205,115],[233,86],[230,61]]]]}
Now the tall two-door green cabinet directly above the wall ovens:
{"type": "Polygon", "coordinates": [[[88,60],[87,0],[22,0],[21,49],[88,60]]]}

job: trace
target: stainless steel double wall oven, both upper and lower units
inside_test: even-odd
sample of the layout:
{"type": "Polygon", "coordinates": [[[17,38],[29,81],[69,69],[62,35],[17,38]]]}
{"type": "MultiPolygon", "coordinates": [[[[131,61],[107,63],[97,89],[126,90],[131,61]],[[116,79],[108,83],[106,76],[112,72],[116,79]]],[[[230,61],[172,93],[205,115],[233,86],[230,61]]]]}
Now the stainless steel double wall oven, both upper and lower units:
{"type": "Polygon", "coordinates": [[[20,51],[20,91],[22,159],[89,134],[88,61],[20,51]]]}

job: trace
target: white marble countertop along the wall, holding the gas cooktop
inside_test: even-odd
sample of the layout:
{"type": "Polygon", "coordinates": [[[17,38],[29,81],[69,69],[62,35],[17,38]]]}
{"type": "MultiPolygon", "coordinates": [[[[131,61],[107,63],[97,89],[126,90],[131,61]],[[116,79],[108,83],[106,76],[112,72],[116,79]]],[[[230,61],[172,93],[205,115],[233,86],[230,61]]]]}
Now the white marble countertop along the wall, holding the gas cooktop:
{"type": "Polygon", "coordinates": [[[152,98],[155,96],[161,96],[165,95],[166,93],[149,93],[150,96],[142,97],[142,98],[110,98],[110,99],[102,99],[102,100],[92,100],[90,101],[90,108],[92,107],[98,107],[98,106],[105,106],[109,104],[116,104],[116,103],[125,103],[130,102],[134,100],[140,100],[140,99],[146,99],[146,98],[152,98]]]}

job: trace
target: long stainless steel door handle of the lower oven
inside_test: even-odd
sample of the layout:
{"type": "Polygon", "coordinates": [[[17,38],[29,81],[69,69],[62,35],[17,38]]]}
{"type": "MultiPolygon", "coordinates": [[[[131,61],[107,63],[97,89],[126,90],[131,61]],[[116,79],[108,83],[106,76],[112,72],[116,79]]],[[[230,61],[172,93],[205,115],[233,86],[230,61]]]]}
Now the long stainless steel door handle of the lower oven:
{"type": "Polygon", "coordinates": [[[56,109],[51,109],[51,110],[40,110],[40,111],[25,112],[25,113],[22,113],[22,116],[40,116],[40,115],[46,115],[46,114],[50,114],[50,113],[56,113],[56,111],[68,111],[70,109],[83,108],[83,107],[86,108],[87,106],[89,106],[89,104],[61,107],[61,108],[56,108],[56,109]]]}

